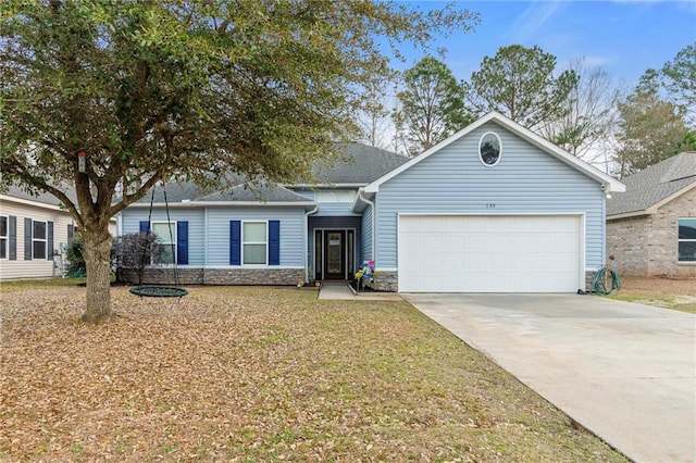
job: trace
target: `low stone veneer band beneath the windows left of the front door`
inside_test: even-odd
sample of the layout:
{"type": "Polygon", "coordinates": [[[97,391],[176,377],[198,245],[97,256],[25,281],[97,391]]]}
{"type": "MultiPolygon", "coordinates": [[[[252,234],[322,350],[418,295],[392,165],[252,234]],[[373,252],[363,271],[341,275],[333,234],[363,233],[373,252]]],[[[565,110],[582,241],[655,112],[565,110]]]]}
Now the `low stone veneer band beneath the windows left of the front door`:
{"type": "MultiPolygon", "coordinates": [[[[302,268],[177,268],[182,285],[297,285],[304,280],[302,268]]],[[[120,281],[137,284],[136,270],[119,268],[120,281]]],[[[146,268],[144,285],[173,285],[172,268],[146,268]]]]}

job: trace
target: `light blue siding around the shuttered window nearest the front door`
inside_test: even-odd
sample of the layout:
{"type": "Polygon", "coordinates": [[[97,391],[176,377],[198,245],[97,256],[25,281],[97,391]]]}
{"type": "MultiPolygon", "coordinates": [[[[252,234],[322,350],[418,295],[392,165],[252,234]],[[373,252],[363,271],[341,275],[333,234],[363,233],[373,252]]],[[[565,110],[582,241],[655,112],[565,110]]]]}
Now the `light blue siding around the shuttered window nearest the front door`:
{"type": "Polygon", "coordinates": [[[281,266],[303,268],[302,208],[209,208],[208,265],[229,265],[229,221],[270,220],[281,221],[281,266]]]}

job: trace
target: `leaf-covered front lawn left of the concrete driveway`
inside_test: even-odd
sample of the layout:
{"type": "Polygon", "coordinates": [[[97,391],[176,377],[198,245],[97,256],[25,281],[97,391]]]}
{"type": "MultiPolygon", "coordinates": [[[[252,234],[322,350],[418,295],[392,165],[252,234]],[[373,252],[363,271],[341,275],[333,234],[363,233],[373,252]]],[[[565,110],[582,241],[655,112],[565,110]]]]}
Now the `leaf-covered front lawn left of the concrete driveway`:
{"type": "Polygon", "coordinates": [[[5,288],[0,460],[625,461],[405,302],[189,289],[5,288]]]}

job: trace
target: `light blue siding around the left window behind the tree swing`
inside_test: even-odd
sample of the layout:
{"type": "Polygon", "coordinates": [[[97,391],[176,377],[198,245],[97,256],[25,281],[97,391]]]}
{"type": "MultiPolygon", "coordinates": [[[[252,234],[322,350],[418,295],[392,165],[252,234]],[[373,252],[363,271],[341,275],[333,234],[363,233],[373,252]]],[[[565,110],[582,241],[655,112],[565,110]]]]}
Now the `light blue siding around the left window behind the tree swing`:
{"type": "MultiPolygon", "coordinates": [[[[150,210],[148,208],[128,208],[121,213],[123,234],[139,233],[140,221],[147,222],[150,210]]],[[[170,208],[172,222],[188,221],[188,265],[201,266],[204,263],[203,239],[203,209],[170,208]]],[[[164,208],[152,209],[152,222],[166,222],[164,208]]]]}

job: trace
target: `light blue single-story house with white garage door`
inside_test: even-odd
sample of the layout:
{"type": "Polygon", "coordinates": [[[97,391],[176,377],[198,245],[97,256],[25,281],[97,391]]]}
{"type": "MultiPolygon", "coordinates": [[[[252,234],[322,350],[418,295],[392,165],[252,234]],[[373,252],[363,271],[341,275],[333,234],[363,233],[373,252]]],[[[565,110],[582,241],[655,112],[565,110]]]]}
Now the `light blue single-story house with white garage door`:
{"type": "Polygon", "coordinates": [[[606,260],[605,193],[623,184],[498,113],[410,160],[343,148],[315,185],[167,185],[169,221],[156,191],[119,232],[171,236],[185,284],[345,280],[373,260],[383,290],[575,292],[606,260]]]}

